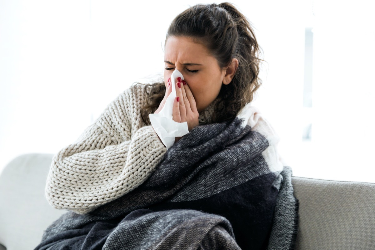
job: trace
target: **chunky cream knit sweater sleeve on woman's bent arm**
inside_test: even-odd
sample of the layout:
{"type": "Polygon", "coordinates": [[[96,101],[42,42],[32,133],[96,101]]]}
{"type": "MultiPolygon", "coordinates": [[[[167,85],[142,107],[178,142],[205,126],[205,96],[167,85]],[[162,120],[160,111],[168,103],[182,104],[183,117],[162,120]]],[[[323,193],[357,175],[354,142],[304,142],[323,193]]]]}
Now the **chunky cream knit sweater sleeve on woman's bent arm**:
{"type": "Polygon", "coordinates": [[[141,97],[130,90],[121,94],[54,156],[46,185],[49,204],[85,214],[150,176],[166,148],[151,126],[142,126],[141,97]]]}

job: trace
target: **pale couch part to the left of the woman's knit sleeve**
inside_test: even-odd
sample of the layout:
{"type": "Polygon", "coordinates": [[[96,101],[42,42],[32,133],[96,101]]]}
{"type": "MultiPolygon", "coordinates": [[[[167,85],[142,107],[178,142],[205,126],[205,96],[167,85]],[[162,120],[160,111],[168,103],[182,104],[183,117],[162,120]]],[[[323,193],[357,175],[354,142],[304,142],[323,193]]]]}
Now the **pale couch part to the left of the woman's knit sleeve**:
{"type": "Polygon", "coordinates": [[[65,213],[49,206],[44,196],[51,161],[51,154],[26,154],[1,172],[0,245],[7,250],[33,249],[43,230],[65,213]]]}

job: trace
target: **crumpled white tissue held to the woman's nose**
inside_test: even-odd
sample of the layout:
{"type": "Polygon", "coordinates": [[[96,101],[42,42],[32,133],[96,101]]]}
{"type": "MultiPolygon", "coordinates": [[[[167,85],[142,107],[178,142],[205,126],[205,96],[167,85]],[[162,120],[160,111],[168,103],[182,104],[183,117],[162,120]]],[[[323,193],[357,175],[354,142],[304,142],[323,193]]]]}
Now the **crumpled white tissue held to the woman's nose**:
{"type": "Polygon", "coordinates": [[[151,125],[167,150],[174,144],[175,137],[184,136],[189,133],[186,121],[178,123],[173,120],[173,103],[177,96],[175,80],[178,77],[184,79],[181,72],[176,69],[171,75],[172,93],[169,94],[162,110],[158,114],[150,114],[151,125]]]}

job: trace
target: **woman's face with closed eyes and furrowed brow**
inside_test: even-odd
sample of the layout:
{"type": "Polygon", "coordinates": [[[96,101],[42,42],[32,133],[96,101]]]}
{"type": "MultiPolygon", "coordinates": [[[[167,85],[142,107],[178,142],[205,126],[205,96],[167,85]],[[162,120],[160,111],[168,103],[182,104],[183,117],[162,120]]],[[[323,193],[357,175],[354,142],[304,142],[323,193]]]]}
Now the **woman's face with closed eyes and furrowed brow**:
{"type": "Polygon", "coordinates": [[[219,95],[226,72],[201,43],[193,42],[190,37],[168,37],[164,62],[165,86],[172,72],[178,69],[194,96],[198,112],[207,108],[219,95]]]}

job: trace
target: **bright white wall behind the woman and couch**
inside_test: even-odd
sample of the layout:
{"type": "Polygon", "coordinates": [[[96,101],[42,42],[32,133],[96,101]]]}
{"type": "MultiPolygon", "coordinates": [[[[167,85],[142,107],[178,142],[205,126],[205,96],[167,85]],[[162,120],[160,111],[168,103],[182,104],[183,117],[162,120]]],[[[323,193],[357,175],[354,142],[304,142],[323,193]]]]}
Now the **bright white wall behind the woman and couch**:
{"type": "MultiPolygon", "coordinates": [[[[375,182],[371,8],[365,1],[232,2],[254,24],[267,61],[254,105],[279,133],[294,175],[375,182]],[[313,129],[303,142],[311,25],[313,129]]],[[[161,74],[166,29],[195,3],[1,0],[0,169],[19,154],[56,153],[130,84],[161,74]]]]}

